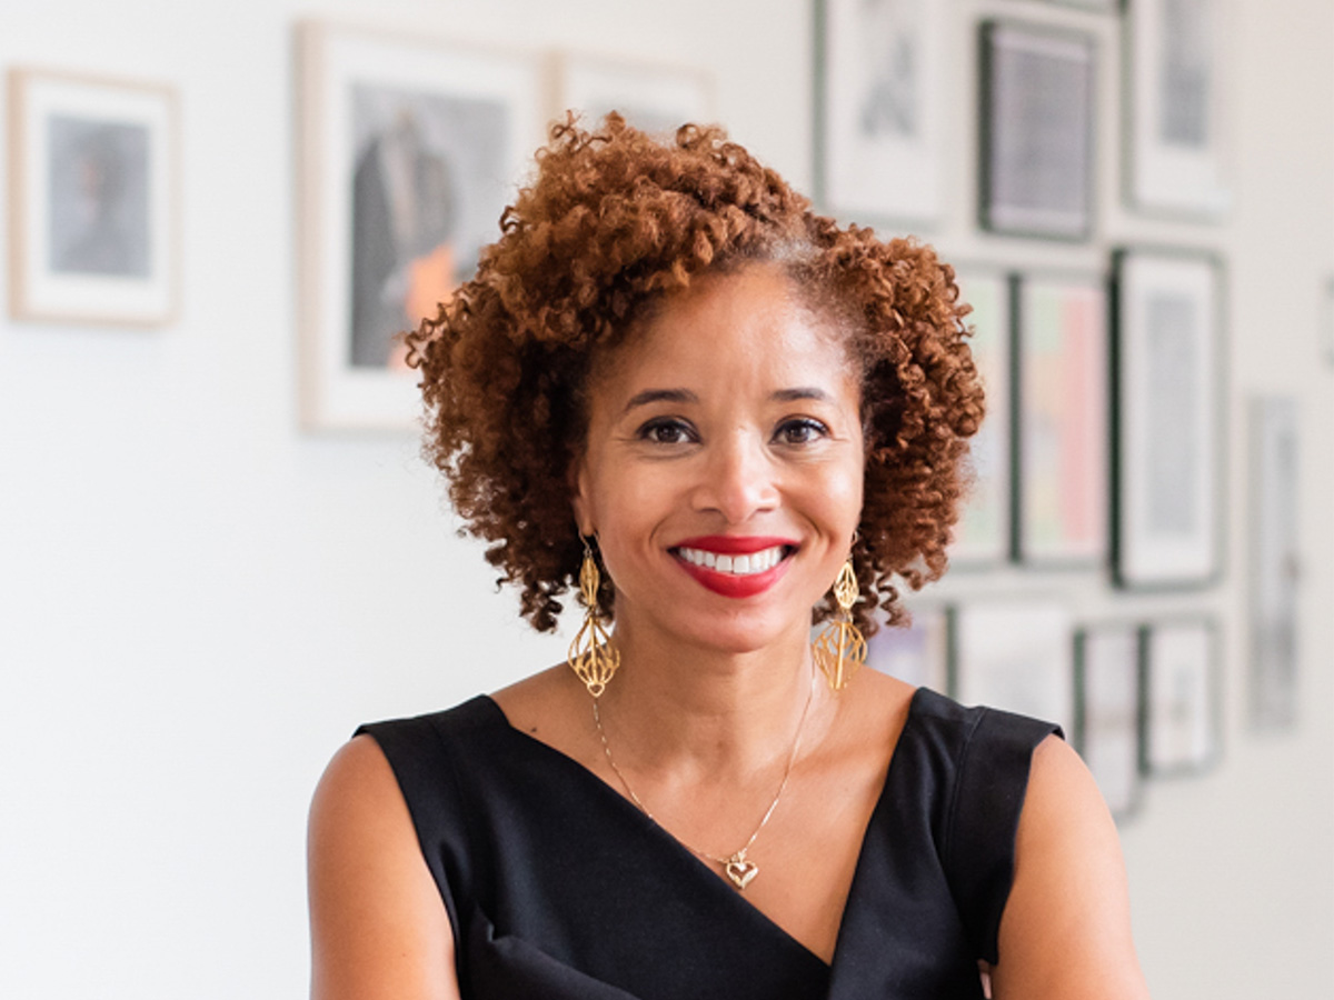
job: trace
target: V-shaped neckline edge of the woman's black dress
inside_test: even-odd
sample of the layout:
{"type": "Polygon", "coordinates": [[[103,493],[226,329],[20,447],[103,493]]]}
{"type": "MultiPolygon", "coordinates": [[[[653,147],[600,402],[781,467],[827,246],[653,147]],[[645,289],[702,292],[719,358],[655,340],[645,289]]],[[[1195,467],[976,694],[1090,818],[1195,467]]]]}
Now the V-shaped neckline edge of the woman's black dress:
{"type": "Polygon", "coordinates": [[[646,813],[642,808],[635,805],[635,803],[632,803],[630,799],[618,792],[600,775],[598,775],[580,761],[575,760],[564,751],[556,749],[550,743],[544,743],[543,740],[539,740],[536,736],[532,736],[531,733],[527,733],[523,729],[519,729],[518,727],[512,725],[510,723],[510,717],[504,713],[504,709],[500,708],[499,703],[490,695],[479,695],[478,700],[488,705],[490,711],[495,716],[495,721],[499,723],[507,732],[512,733],[514,737],[519,740],[519,743],[527,747],[538,748],[539,752],[550,755],[554,760],[563,761],[564,767],[568,767],[575,773],[583,776],[580,780],[591,781],[599,789],[598,795],[603,797],[610,796],[610,799],[616,803],[615,808],[619,808],[628,816],[632,816],[635,821],[643,828],[647,836],[655,837],[656,840],[663,843],[679,859],[687,860],[688,864],[683,867],[686,867],[688,871],[695,872],[696,875],[706,876],[707,877],[706,884],[710,885],[710,892],[712,892],[719,899],[730,900],[726,905],[731,905],[734,908],[739,905],[740,908],[739,912],[744,913],[746,919],[758,921],[766,931],[768,931],[772,935],[776,935],[790,947],[800,949],[800,952],[808,956],[811,961],[819,963],[819,965],[823,969],[832,971],[838,965],[839,955],[843,951],[842,945],[843,945],[843,939],[847,933],[850,907],[854,899],[856,897],[856,887],[858,881],[862,877],[862,869],[866,864],[867,849],[871,844],[871,835],[872,832],[875,832],[875,828],[884,821],[882,813],[884,813],[887,809],[886,799],[888,797],[888,789],[892,784],[891,779],[894,777],[895,767],[899,761],[899,757],[902,756],[899,753],[899,748],[903,745],[903,737],[907,736],[908,733],[908,727],[914,724],[914,720],[918,715],[918,709],[920,708],[919,703],[922,700],[922,695],[924,691],[926,688],[918,688],[916,691],[912,692],[912,696],[908,699],[908,709],[907,715],[903,719],[903,727],[899,729],[898,739],[894,743],[894,749],[890,751],[890,763],[884,769],[884,781],[882,783],[880,791],[875,797],[875,805],[871,808],[871,816],[866,821],[866,828],[862,831],[862,840],[856,851],[856,864],[852,868],[852,880],[848,883],[847,897],[843,901],[843,912],[839,915],[839,928],[838,933],[834,937],[834,955],[830,961],[824,961],[824,959],[822,959],[819,955],[811,951],[810,947],[807,947],[803,941],[795,937],[787,928],[784,928],[782,924],[774,920],[768,913],[766,913],[763,909],[760,909],[748,899],[746,899],[744,893],[738,892],[727,883],[724,883],[722,879],[719,879],[718,873],[707,864],[704,864],[704,861],[699,856],[696,856],[694,851],[686,847],[686,844],[683,844],[680,840],[672,836],[671,831],[659,824],[656,820],[648,816],[648,813],[646,813]]]}

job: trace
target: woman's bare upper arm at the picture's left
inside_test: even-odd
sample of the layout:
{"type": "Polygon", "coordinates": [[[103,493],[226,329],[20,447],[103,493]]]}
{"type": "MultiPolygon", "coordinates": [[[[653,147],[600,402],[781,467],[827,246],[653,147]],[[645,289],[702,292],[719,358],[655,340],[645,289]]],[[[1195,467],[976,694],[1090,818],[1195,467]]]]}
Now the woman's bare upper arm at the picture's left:
{"type": "Polygon", "coordinates": [[[370,736],[320,779],[307,856],[312,1000],[459,1000],[448,913],[370,736]]]}

